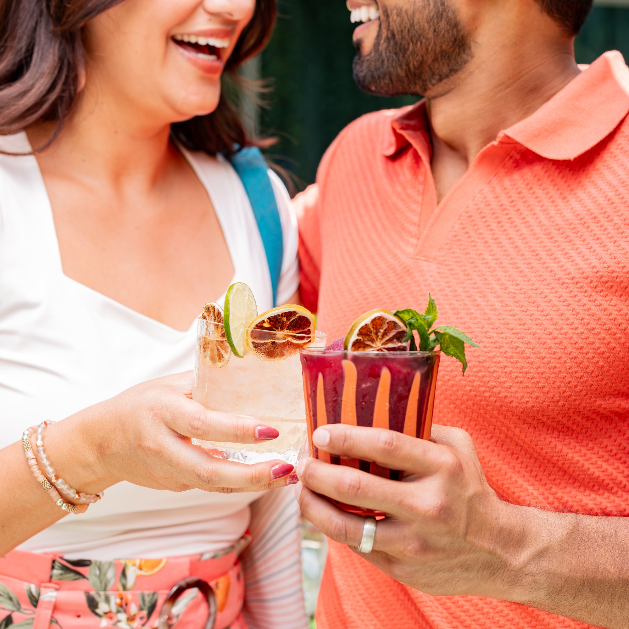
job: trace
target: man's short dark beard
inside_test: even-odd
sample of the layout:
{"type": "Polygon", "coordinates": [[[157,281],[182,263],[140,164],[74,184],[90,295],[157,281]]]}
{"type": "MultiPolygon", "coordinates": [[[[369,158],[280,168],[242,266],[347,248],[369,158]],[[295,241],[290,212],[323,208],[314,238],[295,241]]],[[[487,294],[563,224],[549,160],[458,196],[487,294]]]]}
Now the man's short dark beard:
{"type": "Polygon", "coordinates": [[[428,94],[473,56],[470,36],[450,0],[408,4],[408,8],[382,4],[374,46],[366,55],[359,50],[354,57],[354,81],[368,94],[428,94]]]}

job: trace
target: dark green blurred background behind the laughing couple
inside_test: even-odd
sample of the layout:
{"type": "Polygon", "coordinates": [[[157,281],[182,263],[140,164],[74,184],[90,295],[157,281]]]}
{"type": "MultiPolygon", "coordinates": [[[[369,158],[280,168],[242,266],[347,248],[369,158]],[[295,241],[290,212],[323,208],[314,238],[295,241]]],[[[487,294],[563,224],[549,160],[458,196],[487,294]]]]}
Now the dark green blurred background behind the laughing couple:
{"type": "MultiPolygon", "coordinates": [[[[355,86],[354,25],[342,0],[278,3],[276,30],[262,54],[262,77],[272,77],[274,89],[260,130],[279,137],[268,155],[303,186],[315,180],[323,152],[345,125],[369,111],[417,99],[369,96],[355,86]]],[[[589,63],[612,49],[629,58],[629,8],[597,7],[577,38],[577,60],[589,63]]]]}

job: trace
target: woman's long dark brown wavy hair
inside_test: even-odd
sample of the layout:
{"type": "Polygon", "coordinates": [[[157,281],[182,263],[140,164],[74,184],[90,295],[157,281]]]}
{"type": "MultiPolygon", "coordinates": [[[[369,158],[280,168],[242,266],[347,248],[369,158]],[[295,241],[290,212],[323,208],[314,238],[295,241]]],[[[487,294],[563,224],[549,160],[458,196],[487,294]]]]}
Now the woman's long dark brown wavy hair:
{"type": "MultiPolygon", "coordinates": [[[[123,0],[0,0],[0,135],[37,121],[55,121],[52,143],[79,97],[86,52],[82,27],[123,0]]],[[[257,0],[253,17],[225,65],[228,77],[255,57],[271,36],[276,0],[257,0]]],[[[234,106],[221,89],[216,109],[174,123],[172,135],[192,150],[230,155],[255,144],[247,137],[234,106]]]]}

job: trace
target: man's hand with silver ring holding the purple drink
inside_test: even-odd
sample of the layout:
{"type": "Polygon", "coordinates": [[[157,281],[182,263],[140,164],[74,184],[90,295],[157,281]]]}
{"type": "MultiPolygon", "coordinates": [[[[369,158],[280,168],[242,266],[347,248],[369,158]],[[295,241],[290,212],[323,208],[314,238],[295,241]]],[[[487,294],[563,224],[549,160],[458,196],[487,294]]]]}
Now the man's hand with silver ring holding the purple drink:
{"type": "Polygon", "coordinates": [[[376,461],[404,471],[389,481],[353,467],[304,459],[298,477],[303,514],[328,537],[352,550],[364,518],[335,508],[316,493],[387,514],[376,526],[374,550],[365,559],[398,581],[429,594],[495,596],[491,584],[509,564],[496,548],[496,522],[509,505],[482,472],[469,435],[433,426],[437,443],[393,430],[330,425],[313,435],[317,447],[347,458],[376,461]],[[329,441],[326,439],[329,435],[329,441]]]}

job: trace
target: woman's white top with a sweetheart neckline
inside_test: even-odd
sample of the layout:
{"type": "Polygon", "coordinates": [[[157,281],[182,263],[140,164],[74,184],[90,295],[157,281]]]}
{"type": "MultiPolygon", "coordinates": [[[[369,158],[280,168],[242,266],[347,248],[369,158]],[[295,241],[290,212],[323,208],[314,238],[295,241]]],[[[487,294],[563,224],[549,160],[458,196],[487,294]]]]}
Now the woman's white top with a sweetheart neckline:
{"type": "MultiPolygon", "coordinates": [[[[26,133],[0,136],[0,148],[31,150],[26,133]]],[[[221,157],[184,155],[214,206],[232,281],[252,288],[260,311],[272,308],[264,246],[240,178],[221,157]]],[[[297,221],[286,189],[270,177],[284,235],[277,303],[285,303],[299,282],[297,221]]],[[[192,369],[195,337],[196,321],[174,330],[65,276],[35,157],[0,155],[0,448],[42,420],[62,420],[138,382],[192,369]]],[[[42,490],[33,484],[33,491],[42,490]]],[[[121,482],[84,515],[65,517],[19,548],[100,560],[213,552],[242,536],[248,504],[259,496],[121,482]]]]}

